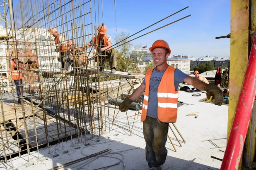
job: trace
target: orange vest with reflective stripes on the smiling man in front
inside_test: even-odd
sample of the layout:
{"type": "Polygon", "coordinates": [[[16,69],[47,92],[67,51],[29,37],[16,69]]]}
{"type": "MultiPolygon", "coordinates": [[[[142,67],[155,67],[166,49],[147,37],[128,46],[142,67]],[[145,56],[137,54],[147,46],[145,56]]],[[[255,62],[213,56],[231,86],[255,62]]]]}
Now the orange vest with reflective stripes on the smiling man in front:
{"type": "MultiPolygon", "coordinates": [[[[154,68],[148,69],[145,76],[145,94],[142,105],[141,121],[147,117],[147,106],[149,98],[150,77],[154,68]]],[[[177,120],[178,89],[174,86],[175,68],[168,66],[164,71],[157,90],[157,118],[164,123],[173,123],[177,120]]]]}

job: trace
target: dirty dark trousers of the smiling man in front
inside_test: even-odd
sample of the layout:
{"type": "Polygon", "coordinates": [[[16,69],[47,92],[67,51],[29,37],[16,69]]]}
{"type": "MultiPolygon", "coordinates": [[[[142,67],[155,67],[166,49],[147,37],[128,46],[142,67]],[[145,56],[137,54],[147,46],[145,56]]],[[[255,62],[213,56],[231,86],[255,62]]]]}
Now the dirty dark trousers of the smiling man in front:
{"type": "Polygon", "coordinates": [[[146,141],[146,160],[148,166],[160,167],[164,164],[167,149],[165,143],[167,141],[169,124],[162,123],[157,118],[147,116],[143,122],[143,135],[146,141]]]}

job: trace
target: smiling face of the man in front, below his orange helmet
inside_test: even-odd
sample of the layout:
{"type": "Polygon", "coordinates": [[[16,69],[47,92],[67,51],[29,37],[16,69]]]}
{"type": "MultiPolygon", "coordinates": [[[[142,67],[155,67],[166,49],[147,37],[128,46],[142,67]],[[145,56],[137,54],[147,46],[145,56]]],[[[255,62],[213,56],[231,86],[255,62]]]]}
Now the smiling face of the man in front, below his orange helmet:
{"type": "Polygon", "coordinates": [[[153,62],[156,66],[161,66],[166,63],[168,56],[169,53],[167,53],[163,48],[155,48],[152,51],[153,62]]]}

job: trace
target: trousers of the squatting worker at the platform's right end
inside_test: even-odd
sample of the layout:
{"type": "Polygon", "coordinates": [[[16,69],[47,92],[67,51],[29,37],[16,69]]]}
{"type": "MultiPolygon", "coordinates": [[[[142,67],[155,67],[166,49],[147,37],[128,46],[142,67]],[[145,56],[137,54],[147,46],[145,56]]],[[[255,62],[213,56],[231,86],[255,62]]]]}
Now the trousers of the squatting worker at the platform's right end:
{"type": "Polygon", "coordinates": [[[116,68],[116,58],[116,49],[112,49],[110,52],[104,52],[103,54],[99,55],[99,66],[105,66],[104,62],[109,61],[110,68],[116,68]]]}

